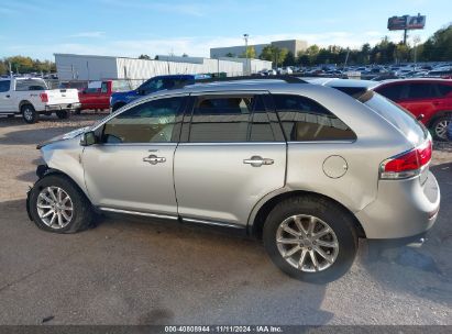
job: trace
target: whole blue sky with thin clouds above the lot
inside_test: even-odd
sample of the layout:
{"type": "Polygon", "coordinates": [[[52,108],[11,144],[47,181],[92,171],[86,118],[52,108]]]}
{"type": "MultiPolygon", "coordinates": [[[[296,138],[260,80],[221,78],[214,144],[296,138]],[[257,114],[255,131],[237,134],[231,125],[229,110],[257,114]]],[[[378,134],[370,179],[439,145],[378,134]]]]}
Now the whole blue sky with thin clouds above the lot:
{"type": "Polygon", "coordinates": [[[0,57],[55,53],[208,57],[210,47],[279,40],[360,47],[389,32],[393,15],[427,15],[426,41],[452,22],[452,0],[0,0],[0,57]]]}

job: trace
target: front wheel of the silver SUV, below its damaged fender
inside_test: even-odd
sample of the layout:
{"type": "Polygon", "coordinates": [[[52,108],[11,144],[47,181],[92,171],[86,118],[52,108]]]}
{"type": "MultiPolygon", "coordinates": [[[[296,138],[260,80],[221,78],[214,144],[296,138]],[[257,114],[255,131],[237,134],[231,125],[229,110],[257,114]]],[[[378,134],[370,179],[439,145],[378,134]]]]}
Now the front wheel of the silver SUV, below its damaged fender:
{"type": "Polygon", "coordinates": [[[31,190],[29,205],[36,226],[47,232],[76,233],[91,226],[93,220],[92,207],[85,193],[69,178],[62,175],[47,175],[41,178],[31,190]],[[55,198],[58,199],[58,189],[62,190],[62,200],[55,207],[49,204],[48,199],[55,202],[55,198]],[[53,191],[55,197],[52,197],[49,191],[53,191]],[[64,210],[70,207],[73,210],[64,210]]]}

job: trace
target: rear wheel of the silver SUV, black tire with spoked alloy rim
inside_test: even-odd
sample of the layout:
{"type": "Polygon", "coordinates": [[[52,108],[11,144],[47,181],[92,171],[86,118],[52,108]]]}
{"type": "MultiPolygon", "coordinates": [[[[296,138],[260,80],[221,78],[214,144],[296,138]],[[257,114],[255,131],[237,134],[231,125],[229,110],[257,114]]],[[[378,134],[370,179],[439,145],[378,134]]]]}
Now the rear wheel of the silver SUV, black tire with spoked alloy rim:
{"type": "Polygon", "coordinates": [[[315,196],[295,197],[279,202],[265,221],[263,241],[272,261],[280,270],[293,278],[313,283],[326,283],[340,278],[349,270],[357,252],[357,235],[350,214],[334,202],[315,196]],[[297,216],[298,222],[293,219],[294,216],[297,216]],[[311,233],[308,230],[310,221],[315,226],[311,233]],[[301,243],[294,243],[297,238],[285,230],[301,231],[298,229],[299,223],[305,235],[310,237],[321,231],[332,233],[328,232],[319,238],[298,238],[301,243]],[[323,230],[327,226],[331,230],[323,230]],[[319,245],[320,243],[322,245],[319,245]],[[337,247],[324,247],[323,244],[337,247]],[[294,252],[295,249],[298,250],[294,252]],[[331,264],[316,249],[328,256],[331,264]],[[294,252],[293,255],[290,252],[294,252]],[[282,253],[288,256],[287,259],[282,253]],[[300,269],[299,263],[304,254],[305,259],[300,269]],[[318,263],[317,270],[312,254],[318,263]]]}

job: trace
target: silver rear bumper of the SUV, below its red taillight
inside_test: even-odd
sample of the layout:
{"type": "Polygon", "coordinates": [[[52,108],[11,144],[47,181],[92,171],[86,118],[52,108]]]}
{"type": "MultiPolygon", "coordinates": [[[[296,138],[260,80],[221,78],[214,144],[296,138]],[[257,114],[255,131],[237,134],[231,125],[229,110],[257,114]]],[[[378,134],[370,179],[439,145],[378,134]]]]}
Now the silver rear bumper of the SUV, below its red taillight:
{"type": "Polygon", "coordinates": [[[377,199],[356,213],[367,238],[407,238],[430,230],[440,209],[440,188],[433,174],[425,185],[419,177],[381,180],[377,199]]]}

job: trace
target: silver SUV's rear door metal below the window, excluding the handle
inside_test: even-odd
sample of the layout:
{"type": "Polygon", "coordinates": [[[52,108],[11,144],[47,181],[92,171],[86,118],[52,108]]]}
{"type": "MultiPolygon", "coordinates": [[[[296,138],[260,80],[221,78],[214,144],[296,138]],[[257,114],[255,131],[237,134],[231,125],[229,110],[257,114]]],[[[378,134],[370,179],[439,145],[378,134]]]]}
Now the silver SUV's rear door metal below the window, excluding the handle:
{"type": "Polygon", "coordinates": [[[179,144],[174,168],[178,212],[246,225],[257,201],[284,187],[285,170],[285,143],[179,144]],[[253,156],[273,164],[244,164],[253,156]]]}

